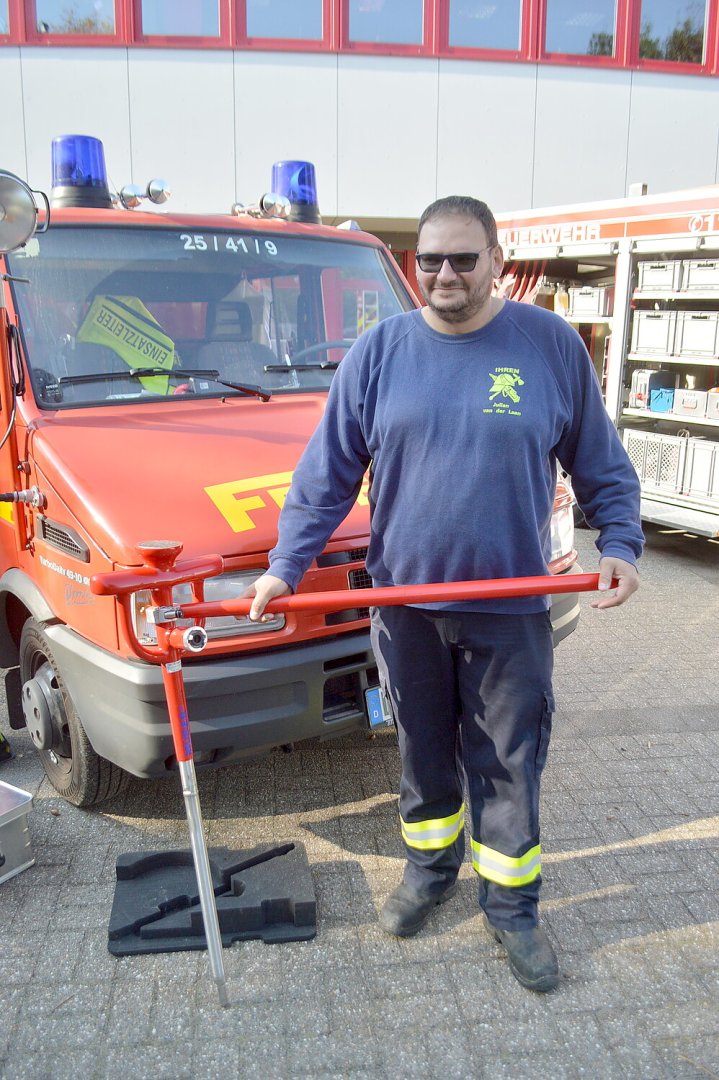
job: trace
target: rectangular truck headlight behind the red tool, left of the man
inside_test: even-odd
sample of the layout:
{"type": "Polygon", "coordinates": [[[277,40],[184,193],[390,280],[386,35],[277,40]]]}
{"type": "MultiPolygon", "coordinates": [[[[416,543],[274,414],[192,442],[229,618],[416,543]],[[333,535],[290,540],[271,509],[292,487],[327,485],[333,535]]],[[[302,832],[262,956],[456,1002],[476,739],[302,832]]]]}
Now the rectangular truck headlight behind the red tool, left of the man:
{"type": "MultiPolygon", "coordinates": [[[[205,581],[205,600],[235,600],[244,596],[246,589],[264,573],[264,570],[232,570],[230,573],[220,573],[216,578],[207,578],[205,581]]],[[[192,588],[190,584],[175,585],[173,589],[173,604],[181,607],[182,604],[192,602],[192,588]]],[[[147,618],[147,609],[153,607],[152,597],[149,592],[143,591],[133,593],[133,627],[137,639],[141,645],[157,645],[158,634],[153,623],[147,618]]],[[[282,630],[285,624],[284,615],[274,615],[267,622],[250,622],[248,617],[235,618],[231,615],[221,615],[205,621],[205,630],[209,640],[217,640],[220,637],[238,637],[242,634],[263,634],[268,631],[282,630]]],[[[178,619],[176,626],[191,626],[189,619],[178,619]]]]}

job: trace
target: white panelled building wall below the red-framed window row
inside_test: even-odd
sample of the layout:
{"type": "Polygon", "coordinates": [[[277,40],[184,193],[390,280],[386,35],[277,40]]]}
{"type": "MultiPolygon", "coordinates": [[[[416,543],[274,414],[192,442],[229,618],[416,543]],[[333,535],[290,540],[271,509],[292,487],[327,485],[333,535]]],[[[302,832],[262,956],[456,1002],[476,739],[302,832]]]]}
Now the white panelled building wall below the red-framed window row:
{"type": "Polygon", "coordinates": [[[323,216],[407,228],[433,199],[497,212],[719,181],[716,79],[434,58],[0,49],[0,167],[48,190],[55,135],[96,135],[112,184],[227,212],[273,161],[317,170],[323,216]]]}

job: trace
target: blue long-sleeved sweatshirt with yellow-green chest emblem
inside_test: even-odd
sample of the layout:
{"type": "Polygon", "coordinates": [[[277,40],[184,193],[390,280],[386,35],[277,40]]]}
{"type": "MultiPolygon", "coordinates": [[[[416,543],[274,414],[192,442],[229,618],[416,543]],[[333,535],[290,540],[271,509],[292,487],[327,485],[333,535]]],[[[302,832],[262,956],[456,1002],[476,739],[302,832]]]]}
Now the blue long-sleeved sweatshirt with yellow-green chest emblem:
{"type": "MultiPolygon", "coordinates": [[[[297,588],[371,463],[376,585],[544,575],[557,461],[601,554],[634,563],[639,482],[576,332],[508,300],[472,334],[438,334],[419,310],[394,315],[339,365],[280,515],[270,572],[297,588]]],[[[426,606],[529,612],[548,603],[426,606]]]]}

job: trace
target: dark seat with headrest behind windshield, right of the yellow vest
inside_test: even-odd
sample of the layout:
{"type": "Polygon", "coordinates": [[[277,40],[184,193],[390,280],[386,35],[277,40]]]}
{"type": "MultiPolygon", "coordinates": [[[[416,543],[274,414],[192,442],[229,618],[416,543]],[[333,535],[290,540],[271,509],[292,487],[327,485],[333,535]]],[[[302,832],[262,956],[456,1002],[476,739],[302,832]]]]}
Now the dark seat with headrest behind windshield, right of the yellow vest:
{"type": "Polygon", "coordinates": [[[272,349],[253,341],[253,316],[244,300],[221,300],[207,305],[206,345],[198,352],[200,367],[215,368],[220,379],[268,387],[274,373],[266,364],[276,364],[272,349]]]}

